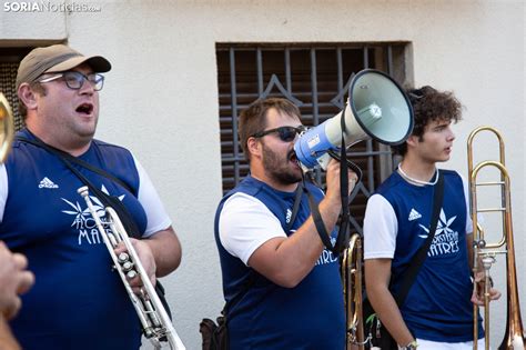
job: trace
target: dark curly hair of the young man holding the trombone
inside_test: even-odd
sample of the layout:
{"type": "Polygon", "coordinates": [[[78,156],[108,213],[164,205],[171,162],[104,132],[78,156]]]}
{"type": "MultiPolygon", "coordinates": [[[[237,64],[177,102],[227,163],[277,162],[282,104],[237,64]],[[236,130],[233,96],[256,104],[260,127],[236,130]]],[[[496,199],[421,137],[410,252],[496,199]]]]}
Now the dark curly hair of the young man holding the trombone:
{"type": "MultiPolygon", "coordinates": [[[[419,89],[408,89],[406,93],[413,106],[414,113],[414,127],[411,134],[418,137],[419,141],[424,140],[425,127],[431,122],[441,120],[456,123],[462,120],[463,106],[452,91],[441,92],[429,86],[425,86],[419,89]]],[[[407,152],[406,142],[393,148],[401,156],[405,156],[407,152]]]]}

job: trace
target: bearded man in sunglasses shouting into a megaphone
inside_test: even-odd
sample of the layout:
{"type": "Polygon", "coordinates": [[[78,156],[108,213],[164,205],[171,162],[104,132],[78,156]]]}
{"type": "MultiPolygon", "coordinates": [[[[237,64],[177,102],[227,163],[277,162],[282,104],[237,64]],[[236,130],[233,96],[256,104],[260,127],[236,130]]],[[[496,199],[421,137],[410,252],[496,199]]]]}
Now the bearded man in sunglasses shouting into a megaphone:
{"type": "MultiPolygon", "coordinates": [[[[240,116],[250,174],[221,201],[215,216],[230,348],[334,349],[345,342],[337,257],[324,249],[294,141],[304,130],[285,99],[257,100],[240,116]],[[297,203],[297,210],[294,204],[297,203]]],[[[350,190],[356,174],[348,173],[350,190]]],[[[331,161],[326,194],[310,182],[335,239],[341,211],[340,164],[331,161]]]]}

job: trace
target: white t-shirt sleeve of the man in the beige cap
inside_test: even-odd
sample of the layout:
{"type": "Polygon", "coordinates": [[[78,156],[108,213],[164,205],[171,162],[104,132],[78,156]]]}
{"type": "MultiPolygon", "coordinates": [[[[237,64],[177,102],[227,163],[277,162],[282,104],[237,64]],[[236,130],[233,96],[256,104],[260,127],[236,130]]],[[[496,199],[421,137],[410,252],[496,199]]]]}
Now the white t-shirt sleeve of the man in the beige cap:
{"type": "Polygon", "coordinates": [[[148,218],[146,230],[143,237],[150,237],[155,232],[168,229],[172,221],[164,209],[164,206],[159,198],[158,191],[153,187],[150,177],[148,176],[141,163],[133,157],[136,170],[139,172],[139,202],[144,208],[148,218]]]}

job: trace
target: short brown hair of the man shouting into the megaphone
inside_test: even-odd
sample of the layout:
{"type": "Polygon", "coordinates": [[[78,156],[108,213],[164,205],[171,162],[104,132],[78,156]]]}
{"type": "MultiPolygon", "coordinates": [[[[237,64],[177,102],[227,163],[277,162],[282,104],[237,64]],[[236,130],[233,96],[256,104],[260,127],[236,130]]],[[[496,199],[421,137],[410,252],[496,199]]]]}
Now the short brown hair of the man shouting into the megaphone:
{"type": "Polygon", "coordinates": [[[266,113],[270,109],[276,109],[284,114],[295,116],[301,119],[300,109],[291,101],[282,98],[260,99],[252,102],[247,109],[240,114],[239,134],[241,148],[245,159],[250,162],[250,152],[246,142],[254,133],[265,130],[266,113]]]}

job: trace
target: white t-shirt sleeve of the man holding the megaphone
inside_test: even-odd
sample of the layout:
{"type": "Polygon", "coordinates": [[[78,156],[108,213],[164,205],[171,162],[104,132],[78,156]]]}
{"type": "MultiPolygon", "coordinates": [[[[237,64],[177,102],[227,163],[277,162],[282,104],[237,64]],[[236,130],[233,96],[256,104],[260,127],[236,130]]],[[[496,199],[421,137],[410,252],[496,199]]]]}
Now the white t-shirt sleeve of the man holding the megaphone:
{"type": "Polygon", "coordinates": [[[252,253],[272,238],[286,238],[280,220],[259,199],[234,193],[223,204],[219,219],[221,244],[246,266],[252,253]]]}

